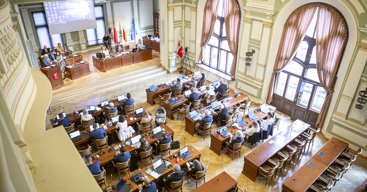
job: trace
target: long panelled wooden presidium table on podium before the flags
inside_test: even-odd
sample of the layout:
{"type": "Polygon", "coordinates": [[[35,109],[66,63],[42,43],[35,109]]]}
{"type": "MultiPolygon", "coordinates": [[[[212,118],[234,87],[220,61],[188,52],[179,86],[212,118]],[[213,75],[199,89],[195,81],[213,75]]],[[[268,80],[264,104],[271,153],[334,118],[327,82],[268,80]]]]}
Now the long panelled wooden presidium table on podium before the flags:
{"type": "Polygon", "coordinates": [[[93,66],[99,71],[106,72],[107,70],[115,69],[117,67],[122,67],[129,64],[139,63],[152,59],[152,49],[138,52],[128,52],[129,53],[126,55],[111,57],[108,59],[98,59],[92,56],[93,66]]]}

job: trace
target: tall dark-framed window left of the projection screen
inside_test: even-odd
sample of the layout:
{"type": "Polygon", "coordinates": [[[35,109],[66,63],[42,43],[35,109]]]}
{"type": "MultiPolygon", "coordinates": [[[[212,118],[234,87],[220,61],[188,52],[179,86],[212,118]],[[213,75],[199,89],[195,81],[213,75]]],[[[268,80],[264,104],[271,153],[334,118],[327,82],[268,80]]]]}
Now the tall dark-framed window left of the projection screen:
{"type": "Polygon", "coordinates": [[[32,12],[32,16],[41,49],[44,45],[48,48],[56,47],[58,43],[63,45],[61,34],[50,35],[44,11],[32,12]]]}

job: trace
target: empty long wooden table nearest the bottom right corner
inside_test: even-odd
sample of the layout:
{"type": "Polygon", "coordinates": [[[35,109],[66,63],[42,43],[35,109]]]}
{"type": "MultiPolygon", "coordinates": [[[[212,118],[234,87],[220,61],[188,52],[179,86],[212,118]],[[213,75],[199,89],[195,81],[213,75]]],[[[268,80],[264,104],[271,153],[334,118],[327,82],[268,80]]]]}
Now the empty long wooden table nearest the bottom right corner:
{"type": "Polygon", "coordinates": [[[331,138],[283,183],[282,192],[305,192],[347,147],[348,143],[335,137],[331,138]],[[320,152],[323,155],[319,156],[320,152]],[[309,167],[308,163],[313,165],[309,167]]]}

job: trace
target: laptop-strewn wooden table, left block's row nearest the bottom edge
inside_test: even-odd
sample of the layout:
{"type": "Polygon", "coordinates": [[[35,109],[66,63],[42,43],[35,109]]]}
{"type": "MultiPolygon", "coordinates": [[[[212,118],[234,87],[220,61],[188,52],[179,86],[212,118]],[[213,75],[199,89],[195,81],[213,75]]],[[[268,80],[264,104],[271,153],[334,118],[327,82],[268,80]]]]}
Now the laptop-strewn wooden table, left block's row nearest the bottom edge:
{"type": "MultiPolygon", "coordinates": [[[[147,177],[149,177],[150,181],[152,181],[152,182],[156,182],[156,183],[157,183],[157,181],[158,181],[162,176],[165,176],[165,175],[167,175],[167,174],[172,173],[173,165],[177,164],[177,165],[179,165],[179,166],[185,166],[186,162],[189,162],[189,161],[191,161],[191,162],[192,162],[194,159],[198,159],[198,160],[200,161],[200,156],[201,156],[200,151],[198,151],[198,150],[197,150],[195,147],[193,147],[192,145],[188,145],[188,147],[189,147],[189,152],[192,154],[192,157],[190,157],[190,158],[188,158],[188,159],[186,159],[186,160],[183,160],[183,159],[179,158],[178,163],[176,163],[176,158],[169,159],[168,157],[166,157],[166,159],[171,163],[172,167],[171,167],[171,168],[168,168],[166,171],[164,171],[164,172],[160,175],[160,177],[158,177],[158,179],[156,179],[156,178],[154,178],[154,177],[150,176],[149,174],[146,174],[146,173],[145,173],[145,171],[146,171],[146,170],[148,170],[148,167],[150,167],[150,169],[152,169],[152,170],[153,170],[153,165],[149,165],[149,166],[147,166],[147,167],[143,167],[143,169],[140,169],[140,170],[138,170],[137,172],[131,173],[130,175],[128,175],[128,176],[126,176],[126,177],[124,177],[123,179],[127,181],[127,184],[131,184],[131,185],[132,185],[132,188],[131,188],[130,192],[132,192],[132,191],[138,191],[138,186],[135,184],[135,182],[133,182],[133,181],[131,181],[131,180],[130,180],[130,177],[131,177],[131,176],[133,176],[133,175],[135,175],[135,174],[137,174],[137,173],[139,173],[139,172],[140,172],[142,175],[144,175],[144,174],[145,174],[147,177]],[[192,149],[194,150],[194,152],[192,152],[192,149]]],[[[176,153],[174,153],[174,154],[177,154],[177,156],[178,156],[178,151],[177,151],[176,153]]],[[[174,154],[173,154],[173,155],[174,155],[174,154]]],[[[114,186],[116,186],[116,184],[117,184],[118,182],[119,182],[118,180],[117,180],[117,181],[114,181],[114,182],[113,182],[113,185],[114,185],[114,186]]],[[[143,185],[143,184],[142,184],[142,185],[143,185]]],[[[157,187],[159,187],[159,186],[158,186],[158,184],[157,184],[157,187]]],[[[107,188],[107,187],[106,187],[106,188],[107,188]]],[[[106,189],[106,188],[103,188],[103,189],[106,189]]],[[[164,186],[163,186],[162,188],[164,188],[164,186]]],[[[113,190],[113,191],[115,192],[115,191],[116,191],[116,189],[115,189],[115,190],[113,190]]]]}

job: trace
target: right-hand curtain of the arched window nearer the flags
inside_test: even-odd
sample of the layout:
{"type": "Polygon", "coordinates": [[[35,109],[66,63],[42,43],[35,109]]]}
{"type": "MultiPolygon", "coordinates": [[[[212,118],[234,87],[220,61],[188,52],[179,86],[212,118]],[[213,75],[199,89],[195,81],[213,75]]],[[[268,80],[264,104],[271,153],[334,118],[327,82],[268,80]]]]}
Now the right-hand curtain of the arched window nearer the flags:
{"type": "Polygon", "coordinates": [[[240,12],[235,0],[223,0],[224,25],[226,36],[229,45],[229,51],[233,55],[230,75],[233,77],[236,74],[236,58],[238,47],[238,34],[240,27],[240,12]]]}

